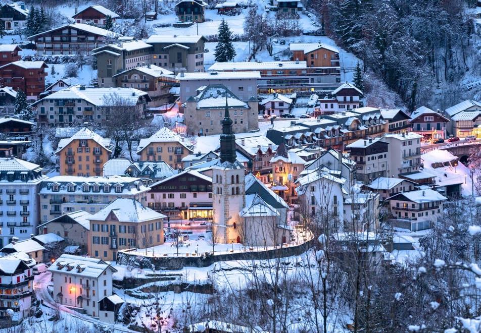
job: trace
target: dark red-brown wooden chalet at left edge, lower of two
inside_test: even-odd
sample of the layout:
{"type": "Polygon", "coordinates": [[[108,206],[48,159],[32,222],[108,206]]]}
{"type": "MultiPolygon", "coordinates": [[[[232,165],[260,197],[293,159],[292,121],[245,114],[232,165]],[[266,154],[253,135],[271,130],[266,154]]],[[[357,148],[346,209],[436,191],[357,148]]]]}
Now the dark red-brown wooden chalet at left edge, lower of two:
{"type": "Polygon", "coordinates": [[[45,68],[42,61],[16,61],[0,67],[0,85],[22,90],[27,99],[37,99],[45,90],[45,68]]]}

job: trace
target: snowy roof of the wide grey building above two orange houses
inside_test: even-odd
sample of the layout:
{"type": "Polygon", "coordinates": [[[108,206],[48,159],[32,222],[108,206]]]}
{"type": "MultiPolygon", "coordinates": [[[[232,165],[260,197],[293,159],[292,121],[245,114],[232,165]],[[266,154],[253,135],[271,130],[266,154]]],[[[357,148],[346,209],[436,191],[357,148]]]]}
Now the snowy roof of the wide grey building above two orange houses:
{"type": "Polygon", "coordinates": [[[36,105],[43,100],[50,99],[83,99],[95,106],[114,106],[111,103],[118,99],[122,102],[127,101],[133,106],[137,104],[138,99],[142,96],[146,96],[147,98],[147,92],[134,88],[93,88],[76,85],[56,91],[49,96],[37,100],[35,103],[33,103],[33,105],[36,105]],[[115,98],[112,98],[113,101],[110,100],[110,96],[115,96],[115,98]]]}

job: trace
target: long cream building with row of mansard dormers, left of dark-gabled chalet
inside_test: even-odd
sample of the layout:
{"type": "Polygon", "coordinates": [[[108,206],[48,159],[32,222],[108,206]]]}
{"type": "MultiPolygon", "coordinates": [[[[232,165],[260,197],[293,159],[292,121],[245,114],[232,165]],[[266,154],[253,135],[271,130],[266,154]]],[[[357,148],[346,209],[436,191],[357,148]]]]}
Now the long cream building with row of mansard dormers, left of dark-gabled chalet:
{"type": "Polygon", "coordinates": [[[77,210],[93,214],[119,196],[145,203],[149,190],[140,178],[55,176],[40,185],[40,218],[45,223],[77,210]]]}

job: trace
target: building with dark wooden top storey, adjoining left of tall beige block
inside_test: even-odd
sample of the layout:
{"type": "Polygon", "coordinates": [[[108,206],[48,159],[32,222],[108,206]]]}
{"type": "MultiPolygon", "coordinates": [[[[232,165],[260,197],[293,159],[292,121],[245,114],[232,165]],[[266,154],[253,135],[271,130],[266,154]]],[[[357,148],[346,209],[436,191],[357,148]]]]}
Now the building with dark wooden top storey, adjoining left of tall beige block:
{"type": "Polygon", "coordinates": [[[377,177],[386,177],[389,169],[389,143],[381,138],[357,140],[346,146],[356,162],[356,179],[366,184],[377,177]]]}

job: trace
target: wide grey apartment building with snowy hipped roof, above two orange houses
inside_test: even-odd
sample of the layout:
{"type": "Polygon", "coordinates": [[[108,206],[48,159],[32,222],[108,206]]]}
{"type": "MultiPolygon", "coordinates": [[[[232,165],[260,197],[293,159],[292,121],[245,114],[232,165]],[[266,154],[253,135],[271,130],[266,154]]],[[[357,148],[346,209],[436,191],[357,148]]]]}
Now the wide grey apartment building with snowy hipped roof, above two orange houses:
{"type": "Polygon", "coordinates": [[[150,101],[147,92],[134,88],[93,88],[76,85],[54,92],[32,104],[37,109],[37,124],[71,127],[85,122],[105,125],[110,108],[129,104],[139,118],[150,101]],[[117,105],[118,106],[118,105],[117,105]]]}

